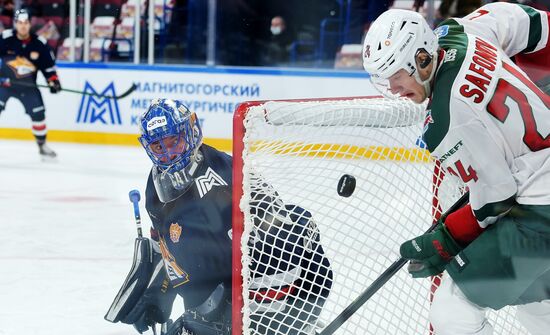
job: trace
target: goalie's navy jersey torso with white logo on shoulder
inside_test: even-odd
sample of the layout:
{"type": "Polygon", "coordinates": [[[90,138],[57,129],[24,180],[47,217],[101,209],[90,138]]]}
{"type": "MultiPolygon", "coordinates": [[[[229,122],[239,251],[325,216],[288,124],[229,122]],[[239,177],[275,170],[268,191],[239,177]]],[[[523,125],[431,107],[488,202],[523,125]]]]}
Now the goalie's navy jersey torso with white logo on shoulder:
{"type": "Polygon", "coordinates": [[[149,175],[146,208],[158,232],[165,268],[186,307],[200,305],[216,286],[231,287],[231,157],[201,146],[193,185],[162,203],[149,175]]]}

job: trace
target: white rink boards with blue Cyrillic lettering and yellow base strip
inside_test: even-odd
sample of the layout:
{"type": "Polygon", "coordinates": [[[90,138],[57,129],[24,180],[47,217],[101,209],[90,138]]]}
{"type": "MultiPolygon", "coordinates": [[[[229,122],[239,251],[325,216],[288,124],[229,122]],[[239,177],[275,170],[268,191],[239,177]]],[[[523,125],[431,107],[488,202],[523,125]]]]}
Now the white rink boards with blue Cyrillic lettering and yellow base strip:
{"type": "MultiPolygon", "coordinates": [[[[63,87],[128,97],[114,100],[41,89],[53,141],[136,145],[138,118],[151,99],[182,100],[197,112],[207,142],[230,151],[231,119],[243,101],[365,96],[376,91],[364,72],[124,64],[59,64],[63,87]]],[[[44,84],[39,78],[39,83],[44,84]]],[[[32,139],[22,104],[7,103],[0,138],[32,139]]]]}

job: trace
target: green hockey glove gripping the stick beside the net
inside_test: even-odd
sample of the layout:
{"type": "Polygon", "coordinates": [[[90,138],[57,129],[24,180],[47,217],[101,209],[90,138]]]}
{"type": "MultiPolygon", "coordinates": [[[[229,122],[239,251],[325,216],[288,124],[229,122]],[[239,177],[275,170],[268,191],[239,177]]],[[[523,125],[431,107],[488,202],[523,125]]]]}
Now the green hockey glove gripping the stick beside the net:
{"type": "Polygon", "coordinates": [[[399,252],[411,261],[407,270],[413,278],[425,278],[443,272],[461,250],[447,227],[440,222],[432,232],[403,243],[399,252]]]}

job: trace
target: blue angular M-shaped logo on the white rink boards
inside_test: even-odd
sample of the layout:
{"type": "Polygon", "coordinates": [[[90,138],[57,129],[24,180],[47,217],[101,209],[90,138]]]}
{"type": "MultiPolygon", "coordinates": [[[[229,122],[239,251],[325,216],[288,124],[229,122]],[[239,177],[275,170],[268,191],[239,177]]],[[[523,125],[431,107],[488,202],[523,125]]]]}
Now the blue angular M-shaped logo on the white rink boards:
{"type": "Polygon", "coordinates": [[[80,100],[78,109],[77,123],[96,123],[103,124],[122,124],[120,119],[120,110],[116,99],[109,99],[105,96],[116,96],[115,85],[111,82],[102,92],[96,91],[93,86],[86,81],[84,84],[84,93],[80,100]]]}

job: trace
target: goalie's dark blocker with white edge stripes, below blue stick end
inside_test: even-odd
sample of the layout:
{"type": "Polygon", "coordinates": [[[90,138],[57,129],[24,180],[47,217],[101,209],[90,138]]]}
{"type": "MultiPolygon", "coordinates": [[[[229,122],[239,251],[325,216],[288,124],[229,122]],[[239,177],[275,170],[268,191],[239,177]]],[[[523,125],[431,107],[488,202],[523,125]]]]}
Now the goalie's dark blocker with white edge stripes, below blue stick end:
{"type": "Polygon", "coordinates": [[[139,333],[168,320],[176,293],[155,247],[148,238],[136,238],[132,268],[105,320],[132,324],[139,333]]]}

